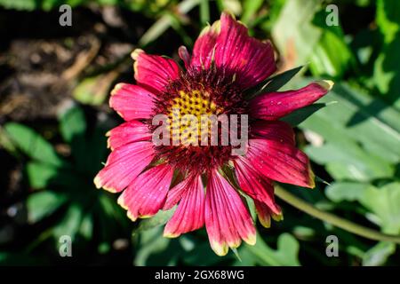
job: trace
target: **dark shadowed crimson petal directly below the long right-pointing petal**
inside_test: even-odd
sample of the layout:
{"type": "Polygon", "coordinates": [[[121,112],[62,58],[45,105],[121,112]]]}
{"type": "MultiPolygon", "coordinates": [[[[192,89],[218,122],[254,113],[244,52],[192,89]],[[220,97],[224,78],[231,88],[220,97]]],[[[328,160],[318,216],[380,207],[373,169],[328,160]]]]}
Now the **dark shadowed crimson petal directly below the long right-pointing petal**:
{"type": "Polygon", "coordinates": [[[257,121],[252,123],[252,134],[268,140],[286,143],[294,146],[294,131],[286,122],[257,121]]]}

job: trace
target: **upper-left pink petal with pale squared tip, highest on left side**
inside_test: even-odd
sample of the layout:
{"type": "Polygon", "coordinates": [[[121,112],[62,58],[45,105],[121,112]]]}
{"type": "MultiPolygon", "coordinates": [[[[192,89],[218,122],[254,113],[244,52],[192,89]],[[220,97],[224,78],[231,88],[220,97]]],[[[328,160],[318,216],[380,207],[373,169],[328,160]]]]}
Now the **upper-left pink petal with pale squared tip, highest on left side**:
{"type": "Polygon", "coordinates": [[[172,59],[150,55],[140,49],[132,52],[132,58],[137,83],[154,93],[164,91],[164,87],[180,75],[180,67],[172,59]]]}

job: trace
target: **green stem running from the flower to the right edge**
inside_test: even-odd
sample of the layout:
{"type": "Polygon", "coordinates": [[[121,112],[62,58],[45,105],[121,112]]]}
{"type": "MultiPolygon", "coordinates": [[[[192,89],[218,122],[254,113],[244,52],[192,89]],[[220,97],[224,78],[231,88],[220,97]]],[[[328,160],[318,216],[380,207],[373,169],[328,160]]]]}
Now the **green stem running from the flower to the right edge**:
{"type": "Polygon", "coordinates": [[[346,230],[350,233],[355,233],[364,238],[373,240],[373,241],[390,241],[400,244],[400,236],[380,233],[378,231],[365,228],[362,225],[357,225],[353,222],[350,222],[341,217],[337,217],[331,213],[325,212],[320,209],[316,209],[314,206],[309,204],[306,201],[301,200],[299,197],[293,195],[292,193],[287,192],[284,188],[279,185],[276,185],[276,196],[278,196],[283,201],[291,204],[293,207],[300,209],[303,212],[306,212],[308,215],[316,217],[324,222],[330,223],[340,229],[346,230]]]}

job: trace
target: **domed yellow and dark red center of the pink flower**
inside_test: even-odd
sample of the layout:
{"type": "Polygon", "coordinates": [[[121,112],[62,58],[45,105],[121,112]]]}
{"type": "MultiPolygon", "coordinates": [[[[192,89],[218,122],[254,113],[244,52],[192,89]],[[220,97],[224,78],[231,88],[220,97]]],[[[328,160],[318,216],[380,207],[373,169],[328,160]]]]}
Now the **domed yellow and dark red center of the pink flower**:
{"type": "MultiPolygon", "coordinates": [[[[204,114],[246,114],[247,103],[242,90],[235,83],[236,75],[227,70],[211,67],[208,70],[189,69],[165,88],[156,99],[156,114],[166,114],[170,122],[170,146],[156,146],[159,159],[172,164],[175,169],[190,173],[203,173],[220,167],[232,159],[231,146],[222,145],[221,122],[218,123],[218,145],[212,146],[210,125],[206,125],[206,141],[200,133],[204,114]],[[189,115],[196,117],[198,124],[186,120],[189,115]],[[179,124],[175,118],[179,119],[179,124]],[[194,128],[198,135],[193,136],[194,128]],[[180,139],[179,145],[172,145],[173,139],[180,139]],[[202,141],[203,138],[203,141],[202,141]],[[206,144],[206,145],[204,145],[206,144]]],[[[149,123],[151,125],[151,122],[149,123]]],[[[151,126],[154,130],[155,126],[151,126]]]]}

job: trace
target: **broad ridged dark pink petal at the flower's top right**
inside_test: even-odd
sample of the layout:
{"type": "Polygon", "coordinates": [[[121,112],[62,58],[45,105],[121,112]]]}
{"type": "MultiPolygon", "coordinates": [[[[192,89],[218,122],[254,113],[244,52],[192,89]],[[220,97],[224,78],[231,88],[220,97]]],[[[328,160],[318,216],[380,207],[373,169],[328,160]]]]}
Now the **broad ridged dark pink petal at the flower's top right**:
{"type": "Polygon", "coordinates": [[[224,12],[216,41],[215,63],[236,73],[237,83],[252,87],[276,71],[271,43],[262,43],[248,35],[244,25],[224,12]]]}

